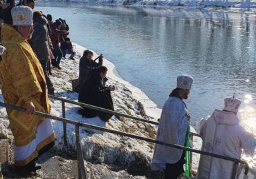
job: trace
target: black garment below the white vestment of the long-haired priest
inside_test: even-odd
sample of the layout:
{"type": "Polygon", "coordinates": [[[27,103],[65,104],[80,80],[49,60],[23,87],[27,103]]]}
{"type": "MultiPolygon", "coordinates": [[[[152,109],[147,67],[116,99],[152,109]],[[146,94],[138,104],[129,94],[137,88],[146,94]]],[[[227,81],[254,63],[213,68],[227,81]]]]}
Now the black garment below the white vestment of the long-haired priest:
{"type": "Polygon", "coordinates": [[[166,169],[163,170],[165,173],[165,179],[176,179],[181,173],[184,173],[183,164],[185,163],[185,151],[181,156],[181,159],[176,163],[166,163],[166,169]]]}

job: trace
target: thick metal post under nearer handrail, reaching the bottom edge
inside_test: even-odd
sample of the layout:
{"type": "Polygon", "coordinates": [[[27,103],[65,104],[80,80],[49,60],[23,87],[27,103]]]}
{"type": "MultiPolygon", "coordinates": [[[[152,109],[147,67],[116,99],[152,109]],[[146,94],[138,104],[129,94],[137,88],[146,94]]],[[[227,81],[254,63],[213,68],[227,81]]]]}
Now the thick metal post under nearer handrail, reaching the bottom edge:
{"type": "Polygon", "coordinates": [[[80,143],[80,135],[79,135],[79,123],[75,125],[75,140],[77,147],[77,169],[78,169],[78,178],[87,179],[87,171],[84,166],[84,157],[82,155],[82,147],[80,143]]]}

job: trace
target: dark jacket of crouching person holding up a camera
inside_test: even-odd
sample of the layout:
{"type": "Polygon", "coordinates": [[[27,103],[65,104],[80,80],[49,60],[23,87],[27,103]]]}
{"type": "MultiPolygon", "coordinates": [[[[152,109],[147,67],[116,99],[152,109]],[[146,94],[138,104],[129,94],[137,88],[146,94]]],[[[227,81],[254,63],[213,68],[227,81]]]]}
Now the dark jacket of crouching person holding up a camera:
{"type": "Polygon", "coordinates": [[[86,81],[92,68],[98,67],[100,65],[102,65],[102,59],[99,60],[99,63],[97,63],[82,56],[79,62],[79,85],[82,85],[82,83],[86,81]]]}

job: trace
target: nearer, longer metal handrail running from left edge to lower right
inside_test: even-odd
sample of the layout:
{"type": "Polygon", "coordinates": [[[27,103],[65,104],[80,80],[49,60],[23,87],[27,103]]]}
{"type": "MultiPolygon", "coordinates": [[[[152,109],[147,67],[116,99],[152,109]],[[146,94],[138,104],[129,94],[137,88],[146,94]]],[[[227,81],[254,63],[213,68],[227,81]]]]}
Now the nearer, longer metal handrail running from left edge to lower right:
{"type": "MultiPolygon", "coordinates": [[[[6,104],[6,103],[2,103],[2,102],[0,102],[0,106],[6,107],[6,108],[9,108],[9,109],[15,109],[15,110],[18,110],[18,111],[21,111],[21,112],[26,111],[26,109],[23,108],[23,107],[17,107],[15,105],[10,105],[10,104],[6,104]]],[[[52,118],[54,120],[59,120],[59,121],[65,122],[65,123],[73,124],[73,125],[76,126],[76,130],[75,130],[76,135],[77,135],[77,132],[79,133],[79,128],[78,127],[86,127],[86,128],[90,128],[90,129],[98,129],[100,131],[107,131],[109,133],[118,134],[120,136],[127,136],[127,137],[130,137],[130,138],[136,138],[136,139],[139,139],[139,140],[144,140],[144,141],[147,141],[149,143],[165,145],[165,146],[168,146],[168,147],[174,147],[176,149],[183,149],[185,151],[192,151],[192,152],[197,153],[197,154],[203,154],[203,155],[211,156],[211,157],[214,157],[214,158],[221,158],[221,159],[224,159],[224,160],[230,160],[230,161],[234,162],[234,167],[233,167],[233,171],[232,171],[232,178],[235,178],[235,175],[237,173],[237,166],[238,166],[239,163],[246,165],[245,174],[247,175],[247,173],[248,173],[249,167],[248,167],[247,162],[243,161],[243,160],[240,160],[240,159],[237,159],[237,158],[230,158],[230,157],[227,157],[227,156],[221,156],[219,154],[212,154],[212,153],[209,153],[209,152],[206,152],[206,151],[201,151],[201,150],[197,150],[197,149],[190,149],[189,147],[184,147],[184,146],[181,146],[181,145],[164,143],[160,140],[154,140],[152,138],[145,138],[145,137],[142,137],[142,136],[137,136],[137,135],[129,134],[129,133],[122,132],[122,131],[116,131],[114,129],[108,129],[106,127],[100,127],[100,126],[96,126],[96,125],[90,125],[90,124],[87,124],[87,123],[81,123],[81,122],[77,122],[75,120],[71,120],[71,119],[67,119],[67,118],[61,118],[61,117],[53,116],[51,114],[45,114],[43,112],[35,112],[35,115],[42,116],[42,117],[45,117],[45,118],[52,118]]],[[[78,137],[76,136],[76,138],[79,139],[79,136],[78,137]]],[[[80,141],[79,141],[79,143],[80,143],[80,141]]],[[[77,145],[77,148],[78,147],[79,147],[79,145],[77,145]]],[[[80,151],[78,149],[77,149],[77,152],[79,152],[78,154],[80,154],[80,151]]],[[[84,162],[84,161],[80,161],[80,160],[78,161],[78,160],[79,160],[79,158],[77,158],[77,162],[78,162],[79,165],[81,164],[81,162],[84,162]]],[[[81,178],[87,178],[85,168],[83,168],[83,171],[78,171],[78,172],[81,173],[81,176],[80,176],[81,178]],[[84,174],[85,174],[85,176],[82,176],[84,174]]]]}

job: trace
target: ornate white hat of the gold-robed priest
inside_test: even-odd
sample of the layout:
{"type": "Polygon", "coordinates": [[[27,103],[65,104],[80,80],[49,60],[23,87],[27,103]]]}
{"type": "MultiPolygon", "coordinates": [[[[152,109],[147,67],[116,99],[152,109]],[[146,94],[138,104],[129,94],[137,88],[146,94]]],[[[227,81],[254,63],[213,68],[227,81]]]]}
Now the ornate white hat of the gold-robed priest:
{"type": "Polygon", "coordinates": [[[33,10],[28,6],[15,6],[11,10],[12,25],[33,25],[33,10]]]}

